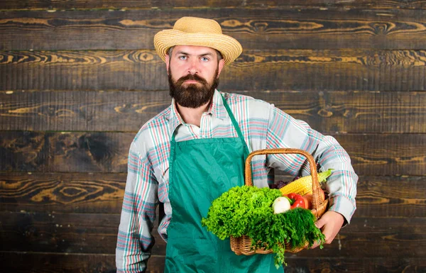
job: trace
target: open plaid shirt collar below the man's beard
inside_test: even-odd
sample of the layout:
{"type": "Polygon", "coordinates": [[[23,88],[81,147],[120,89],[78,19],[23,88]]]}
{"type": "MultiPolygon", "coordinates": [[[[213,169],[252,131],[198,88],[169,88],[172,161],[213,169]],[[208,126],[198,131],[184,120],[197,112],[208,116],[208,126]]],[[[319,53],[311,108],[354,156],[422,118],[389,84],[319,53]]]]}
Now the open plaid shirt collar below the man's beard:
{"type": "MultiPolygon", "coordinates": [[[[224,106],[224,102],[222,101],[222,94],[215,89],[212,99],[212,104],[210,104],[207,113],[212,116],[220,119],[226,118],[226,108],[224,106]]],[[[176,128],[181,124],[185,124],[180,113],[178,112],[178,108],[176,108],[175,99],[172,99],[172,104],[170,105],[170,115],[169,115],[169,130],[170,137],[173,132],[175,132],[176,128]]]]}

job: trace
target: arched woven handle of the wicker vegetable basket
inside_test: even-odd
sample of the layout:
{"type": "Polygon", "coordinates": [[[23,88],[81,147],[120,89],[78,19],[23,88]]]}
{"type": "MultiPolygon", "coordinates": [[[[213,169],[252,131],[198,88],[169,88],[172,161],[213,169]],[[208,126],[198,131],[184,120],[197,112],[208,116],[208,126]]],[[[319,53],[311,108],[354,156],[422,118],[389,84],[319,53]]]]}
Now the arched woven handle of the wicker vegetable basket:
{"type": "Polygon", "coordinates": [[[310,172],[312,176],[312,213],[317,216],[317,208],[320,208],[324,204],[322,194],[320,194],[320,183],[318,182],[317,165],[315,164],[314,157],[309,152],[300,149],[293,148],[276,148],[276,149],[263,149],[251,152],[246,159],[245,172],[245,184],[246,186],[253,186],[253,177],[251,174],[251,159],[256,155],[275,155],[275,154],[298,154],[305,155],[309,162],[310,172]]]}

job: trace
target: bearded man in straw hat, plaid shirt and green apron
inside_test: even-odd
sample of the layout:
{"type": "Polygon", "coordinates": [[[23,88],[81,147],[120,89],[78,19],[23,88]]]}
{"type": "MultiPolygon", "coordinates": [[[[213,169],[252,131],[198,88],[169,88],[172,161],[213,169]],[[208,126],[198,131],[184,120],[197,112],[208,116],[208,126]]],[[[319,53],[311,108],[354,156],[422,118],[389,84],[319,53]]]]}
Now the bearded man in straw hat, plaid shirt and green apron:
{"type": "MultiPolygon", "coordinates": [[[[216,21],[183,17],[155,35],[165,61],[172,104],[142,126],[131,143],[116,247],[117,272],[146,272],[154,244],[155,208],[164,206],[158,233],[167,242],[165,272],[283,272],[274,255],[236,255],[201,225],[212,201],[244,185],[249,152],[291,147],[312,154],[327,181],[329,208],[316,225],[331,243],[355,211],[356,176],[349,155],[326,135],[273,104],[217,90],[224,66],[242,52],[216,21]]],[[[253,184],[271,183],[273,168],[298,176],[305,159],[258,156],[253,184]]]]}

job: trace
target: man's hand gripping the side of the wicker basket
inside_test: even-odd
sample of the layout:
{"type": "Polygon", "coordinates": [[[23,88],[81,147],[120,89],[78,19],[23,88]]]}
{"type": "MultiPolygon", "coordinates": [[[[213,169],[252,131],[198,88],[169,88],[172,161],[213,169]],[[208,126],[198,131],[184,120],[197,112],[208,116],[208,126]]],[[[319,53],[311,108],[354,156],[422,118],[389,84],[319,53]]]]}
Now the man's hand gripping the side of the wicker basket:
{"type": "MultiPolygon", "coordinates": [[[[322,234],[325,235],[325,243],[331,244],[334,237],[336,237],[337,233],[339,233],[340,228],[344,223],[344,217],[342,214],[337,213],[335,211],[327,211],[322,215],[322,217],[315,222],[317,228],[320,228],[322,234]]],[[[317,247],[318,243],[314,243],[311,248],[317,247]]]]}

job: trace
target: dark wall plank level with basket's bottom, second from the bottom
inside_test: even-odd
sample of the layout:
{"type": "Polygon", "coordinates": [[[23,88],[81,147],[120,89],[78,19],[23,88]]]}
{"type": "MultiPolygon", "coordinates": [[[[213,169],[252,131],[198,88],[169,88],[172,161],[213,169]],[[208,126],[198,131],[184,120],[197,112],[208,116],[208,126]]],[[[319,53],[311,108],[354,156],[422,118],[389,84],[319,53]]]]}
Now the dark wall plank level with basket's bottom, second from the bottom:
{"type": "MultiPolygon", "coordinates": [[[[1,212],[0,217],[1,251],[115,253],[119,214],[1,212]]],[[[398,252],[420,258],[426,254],[425,224],[426,218],[354,217],[332,244],[296,256],[388,257],[398,252]]],[[[153,255],[165,255],[156,228],[153,235],[153,255]]]]}

